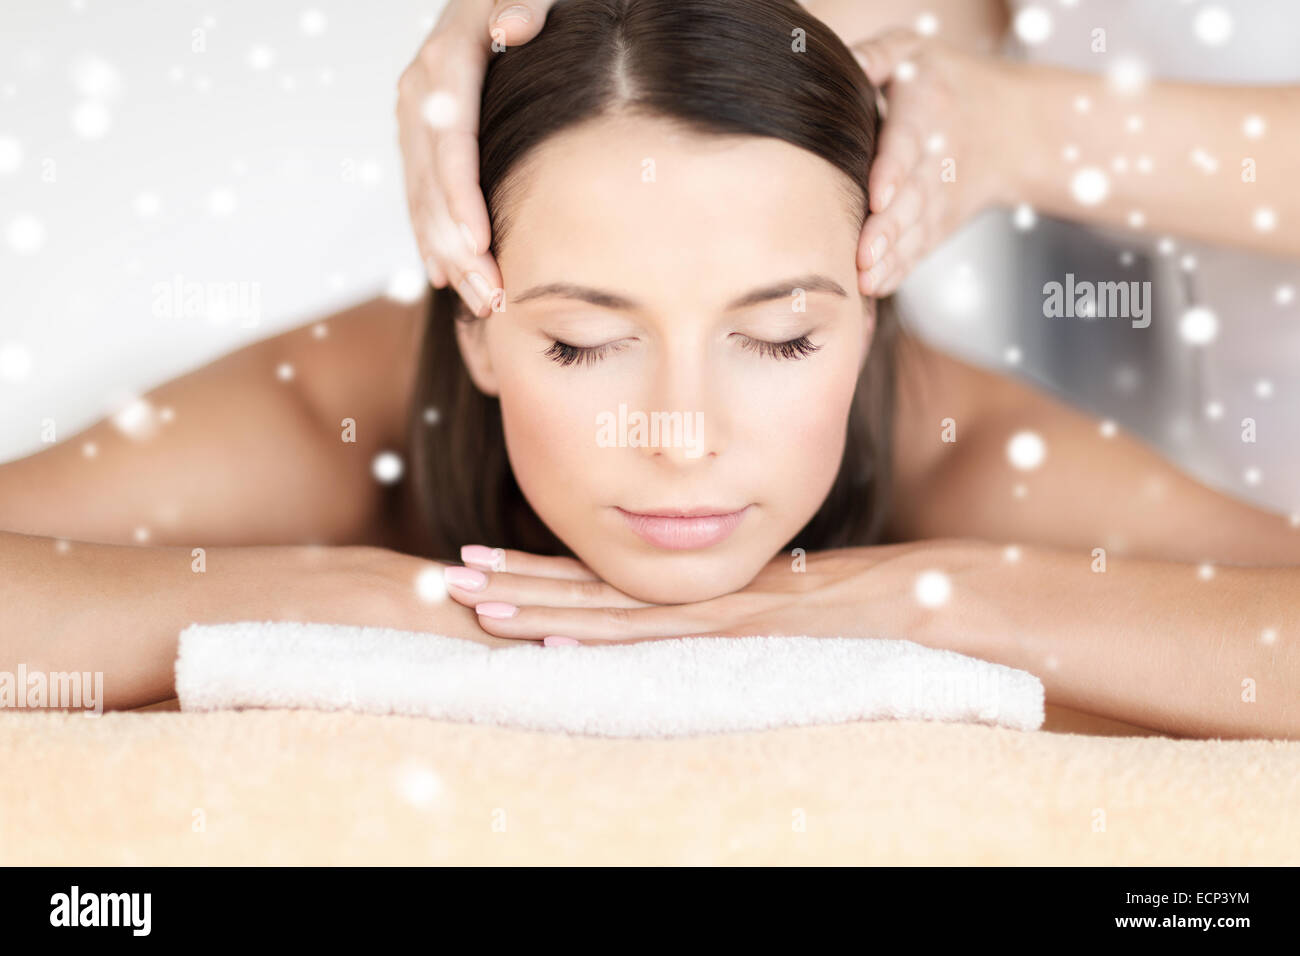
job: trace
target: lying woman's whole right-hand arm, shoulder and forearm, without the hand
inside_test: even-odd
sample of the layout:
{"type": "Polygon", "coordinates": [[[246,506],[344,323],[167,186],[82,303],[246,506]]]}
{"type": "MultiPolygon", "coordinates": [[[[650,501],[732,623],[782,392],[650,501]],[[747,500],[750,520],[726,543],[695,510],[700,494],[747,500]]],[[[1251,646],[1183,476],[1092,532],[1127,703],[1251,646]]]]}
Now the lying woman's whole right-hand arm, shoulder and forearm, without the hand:
{"type": "Polygon", "coordinates": [[[871,593],[910,594],[939,570],[952,598],[900,630],[1028,670],[1056,705],[1190,736],[1300,739],[1300,522],[916,345],[902,359],[893,533],[933,540],[878,568],[871,593]],[[1008,459],[1019,432],[1043,440],[1037,468],[1008,459]]]}

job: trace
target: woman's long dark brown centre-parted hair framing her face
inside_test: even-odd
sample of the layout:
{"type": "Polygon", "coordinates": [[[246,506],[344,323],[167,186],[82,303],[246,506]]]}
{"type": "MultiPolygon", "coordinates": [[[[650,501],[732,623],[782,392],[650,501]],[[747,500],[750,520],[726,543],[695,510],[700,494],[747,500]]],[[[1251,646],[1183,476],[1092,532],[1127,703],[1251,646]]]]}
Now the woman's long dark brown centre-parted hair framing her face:
{"type": "MultiPolygon", "coordinates": [[[[502,196],[510,173],[547,137],[614,111],[809,150],[849,177],[850,202],[859,221],[866,217],[875,90],[835,33],[798,3],[560,0],[536,39],[495,53],[488,68],[478,150],[493,255],[508,226],[502,196]]],[[[471,380],[454,321],[481,320],[450,287],[434,289],[408,423],[403,510],[417,522],[407,528],[410,550],[438,561],[459,561],[465,544],[569,555],[515,481],[500,406],[471,380]]],[[[880,302],[838,475],[790,545],[822,550],[880,540],[900,332],[880,302]]]]}

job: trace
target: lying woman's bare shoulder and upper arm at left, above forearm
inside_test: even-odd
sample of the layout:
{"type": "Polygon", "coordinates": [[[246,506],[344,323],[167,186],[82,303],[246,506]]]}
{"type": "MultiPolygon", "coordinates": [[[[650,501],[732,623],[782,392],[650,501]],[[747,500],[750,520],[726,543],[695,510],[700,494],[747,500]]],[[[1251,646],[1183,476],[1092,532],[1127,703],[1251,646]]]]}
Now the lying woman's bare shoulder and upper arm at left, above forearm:
{"type": "Polygon", "coordinates": [[[376,299],[152,389],[126,428],[105,419],[0,466],[0,529],[105,544],[373,542],[372,460],[402,450],[421,319],[422,303],[376,299]]]}

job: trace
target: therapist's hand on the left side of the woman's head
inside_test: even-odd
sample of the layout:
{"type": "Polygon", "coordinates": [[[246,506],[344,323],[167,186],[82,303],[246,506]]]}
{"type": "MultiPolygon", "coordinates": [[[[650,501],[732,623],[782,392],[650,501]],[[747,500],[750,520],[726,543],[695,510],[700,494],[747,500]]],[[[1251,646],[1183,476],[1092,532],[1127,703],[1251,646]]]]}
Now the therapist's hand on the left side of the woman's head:
{"type": "Polygon", "coordinates": [[[429,281],[451,285],[484,316],[500,271],[478,191],[478,105],[491,44],[514,47],[542,29],[554,0],[448,0],[398,82],[398,134],[407,206],[429,281]]]}

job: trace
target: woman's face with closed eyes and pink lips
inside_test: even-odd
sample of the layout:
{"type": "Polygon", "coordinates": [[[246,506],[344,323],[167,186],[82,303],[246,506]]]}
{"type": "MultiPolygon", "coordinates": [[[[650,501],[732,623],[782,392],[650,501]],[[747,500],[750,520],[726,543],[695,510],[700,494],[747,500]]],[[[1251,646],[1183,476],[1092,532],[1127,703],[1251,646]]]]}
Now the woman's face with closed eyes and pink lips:
{"type": "Polygon", "coordinates": [[[636,598],[745,587],[844,453],[874,326],[853,185],[781,140],[629,117],[552,137],[520,173],[504,308],[460,346],[524,496],[636,598]],[[634,516],[673,511],[741,514],[634,516]]]}

